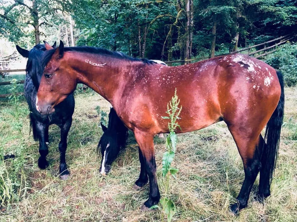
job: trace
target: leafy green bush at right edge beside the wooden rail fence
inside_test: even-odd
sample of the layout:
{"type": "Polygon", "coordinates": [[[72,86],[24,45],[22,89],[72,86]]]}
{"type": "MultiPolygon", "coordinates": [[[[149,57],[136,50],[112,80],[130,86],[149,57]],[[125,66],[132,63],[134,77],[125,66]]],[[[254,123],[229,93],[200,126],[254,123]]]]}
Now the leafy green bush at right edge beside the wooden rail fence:
{"type": "Polygon", "coordinates": [[[297,84],[297,44],[288,42],[278,47],[266,56],[265,62],[282,72],[288,86],[297,84]]]}

